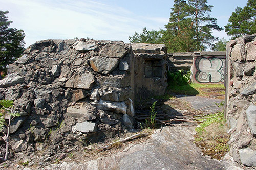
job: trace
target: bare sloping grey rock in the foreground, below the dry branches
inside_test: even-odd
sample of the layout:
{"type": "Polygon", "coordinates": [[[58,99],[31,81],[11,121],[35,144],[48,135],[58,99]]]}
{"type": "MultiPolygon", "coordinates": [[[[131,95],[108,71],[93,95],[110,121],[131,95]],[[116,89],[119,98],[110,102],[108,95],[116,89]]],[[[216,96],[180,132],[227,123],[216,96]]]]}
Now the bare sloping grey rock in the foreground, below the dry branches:
{"type": "Polygon", "coordinates": [[[89,162],[62,162],[45,169],[239,169],[230,162],[202,156],[193,143],[194,127],[156,130],[151,139],[89,162]]]}

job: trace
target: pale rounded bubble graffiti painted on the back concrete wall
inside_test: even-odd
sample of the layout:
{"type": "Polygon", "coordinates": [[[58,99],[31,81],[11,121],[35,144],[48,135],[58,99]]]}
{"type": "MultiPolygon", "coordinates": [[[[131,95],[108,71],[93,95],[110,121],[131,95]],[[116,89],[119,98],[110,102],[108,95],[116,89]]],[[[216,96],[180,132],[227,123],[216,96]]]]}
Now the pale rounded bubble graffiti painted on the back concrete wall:
{"type": "Polygon", "coordinates": [[[195,79],[199,83],[224,82],[225,59],[220,57],[197,57],[194,62],[195,79]]]}

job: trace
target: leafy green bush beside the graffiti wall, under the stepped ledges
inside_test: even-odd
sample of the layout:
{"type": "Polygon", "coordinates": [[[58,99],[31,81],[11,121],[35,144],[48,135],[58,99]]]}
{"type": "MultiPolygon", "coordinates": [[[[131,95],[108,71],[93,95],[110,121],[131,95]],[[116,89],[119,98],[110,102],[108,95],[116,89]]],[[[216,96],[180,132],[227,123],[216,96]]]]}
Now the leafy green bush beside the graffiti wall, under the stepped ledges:
{"type": "Polygon", "coordinates": [[[184,74],[183,70],[179,70],[177,72],[167,72],[167,82],[169,86],[174,85],[188,85],[188,82],[190,81],[190,75],[191,72],[188,71],[187,74],[184,74]]]}

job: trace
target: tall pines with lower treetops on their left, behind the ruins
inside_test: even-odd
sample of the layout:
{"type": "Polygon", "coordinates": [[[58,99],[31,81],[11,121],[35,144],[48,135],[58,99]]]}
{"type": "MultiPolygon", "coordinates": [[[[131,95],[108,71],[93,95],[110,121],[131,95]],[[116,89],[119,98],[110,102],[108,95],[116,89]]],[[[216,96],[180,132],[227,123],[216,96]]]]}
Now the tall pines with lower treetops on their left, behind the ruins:
{"type": "Polygon", "coordinates": [[[188,52],[212,47],[217,37],[212,30],[221,31],[217,19],[210,17],[211,5],[206,0],[174,0],[166,30],[135,32],[130,42],[164,43],[168,52],[188,52]]]}

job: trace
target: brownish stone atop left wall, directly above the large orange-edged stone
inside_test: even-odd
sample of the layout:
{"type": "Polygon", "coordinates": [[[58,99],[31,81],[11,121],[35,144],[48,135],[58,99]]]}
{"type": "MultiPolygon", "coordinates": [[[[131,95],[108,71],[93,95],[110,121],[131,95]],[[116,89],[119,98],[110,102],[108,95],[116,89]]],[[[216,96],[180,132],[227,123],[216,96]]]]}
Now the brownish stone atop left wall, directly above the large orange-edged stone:
{"type": "Polygon", "coordinates": [[[128,51],[119,44],[107,44],[99,52],[101,57],[123,58],[128,51]]]}

